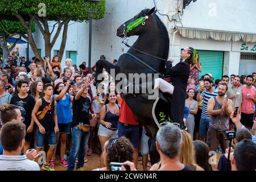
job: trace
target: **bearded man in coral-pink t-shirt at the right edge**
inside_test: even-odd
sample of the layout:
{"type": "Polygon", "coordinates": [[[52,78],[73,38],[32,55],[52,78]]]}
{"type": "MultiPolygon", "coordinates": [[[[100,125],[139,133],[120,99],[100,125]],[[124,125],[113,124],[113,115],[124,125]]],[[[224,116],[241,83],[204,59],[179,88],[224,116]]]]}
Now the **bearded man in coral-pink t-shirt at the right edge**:
{"type": "Polygon", "coordinates": [[[246,86],[241,88],[243,97],[241,105],[241,123],[246,126],[247,129],[253,127],[254,104],[256,104],[256,89],[252,86],[253,81],[254,77],[248,75],[246,77],[246,86]]]}

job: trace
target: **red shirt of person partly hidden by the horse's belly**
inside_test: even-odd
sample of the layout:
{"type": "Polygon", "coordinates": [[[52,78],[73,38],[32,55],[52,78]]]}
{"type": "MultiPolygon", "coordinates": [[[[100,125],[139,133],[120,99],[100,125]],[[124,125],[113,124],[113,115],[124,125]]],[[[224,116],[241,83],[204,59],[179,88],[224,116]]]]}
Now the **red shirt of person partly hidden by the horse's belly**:
{"type": "Polygon", "coordinates": [[[120,107],[120,116],[119,122],[129,125],[138,125],[138,119],[131,111],[130,107],[126,104],[125,100],[121,97],[121,107],[120,107]]]}

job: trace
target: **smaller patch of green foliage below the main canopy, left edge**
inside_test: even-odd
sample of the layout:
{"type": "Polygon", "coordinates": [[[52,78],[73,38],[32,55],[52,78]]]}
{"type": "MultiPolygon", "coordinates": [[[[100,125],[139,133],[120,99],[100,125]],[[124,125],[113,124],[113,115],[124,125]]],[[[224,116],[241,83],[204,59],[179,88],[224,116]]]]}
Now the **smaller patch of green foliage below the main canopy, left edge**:
{"type": "MultiPolygon", "coordinates": [[[[0,35],[6,34],[5,30],[10,34],[26,34],[26,30],[19,21],[2,20],[0,23],[0,35]]],[[[35,32],[35,23],[32,23],[31,30],[35,32]]]]}

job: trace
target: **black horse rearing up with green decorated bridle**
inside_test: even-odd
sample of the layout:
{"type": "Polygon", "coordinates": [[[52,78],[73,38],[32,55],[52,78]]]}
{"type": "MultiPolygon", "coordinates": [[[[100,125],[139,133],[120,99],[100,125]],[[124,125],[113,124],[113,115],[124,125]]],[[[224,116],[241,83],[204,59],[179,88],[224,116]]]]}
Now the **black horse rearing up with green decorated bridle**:
{"type": "MultiPolygon", "coordinates": [[[[119,57],[116,66],[106,60],[97,61],[97,83],[101,81],[97,79],[97,76],[102,73],[103,68],[109,73],[110,69],[113,69],[115,74],[124,73],[127,77],[129,73],[160,73],[160,75],[164,75],[169,51],[169,36],[166,26],[155,13],[155,8],[144,9],[117,29],[117,36],[121,38],[133,35],[139,37],[133,46],[130,46],[127,53],[119,57]]],[[[152,83],[154,83],[154,78],[152,78],[152,83]]],[[[148,100],[143,94],[123,94],[123,96],[151,138],[149,142],[150,156],[151,163],[154,164],[159,159],[155,148],[156,133],[160,126],[158,123],[159,112],[162,111],[162,114],[165,115],[170,113],[170,103],[163,102],[159,97],[148,100]],[[156,103],[158,103],[157,106],[156,103]],[[154,109],[152,111],[153,107],[156,107],[156,113],[154,113],[154,109]]]]}

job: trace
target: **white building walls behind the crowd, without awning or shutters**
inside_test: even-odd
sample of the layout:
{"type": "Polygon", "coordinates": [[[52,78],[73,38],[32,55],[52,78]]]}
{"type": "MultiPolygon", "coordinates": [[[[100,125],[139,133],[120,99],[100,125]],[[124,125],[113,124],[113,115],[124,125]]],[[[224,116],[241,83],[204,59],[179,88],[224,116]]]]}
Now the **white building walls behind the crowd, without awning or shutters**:
{"type": "MultiPolygon", "coordinates": [[[[172,15],[177,13],[177,3],[180,5],[181,0],[155,0],[155,2],[160,13],[168,14],[171,18],[172,15]]],[[[123,22],[132,18],[145,7],[154,7],[153,0],[106,1],[105,18],[93,20],[92,65],[96,63],[102,54],[106,56],[107,60],[110,60],[118,59],[123,52],[127,51],[128,48],[123,46],[121,38],[115,35],[116,30],[123,22]]],[[[256,19],[253,16],[255,14],[255,7],[256,1],[254,0],[196,1],[195,3],[191,2],[185,7],[183,15],[180,16],[180,18],[184,27],[256,33],[256,19]]],[[[159,15],[159,18],[162,19],[167,26],[170,35],[169,58],[174,59],[175,63],[180,59],[180,49],[187,46],[194,46],[197,49],[239,51],[237,49],[232,50],[232,46],[234,47],[234,43],[232,42],[217,42],[212,39],[186,39],[181,37],[178,33],[175,36],[174,46],[172,47],[172,28],[174,27],[174,22],[169,22],[166,16],[159,15]]],[[[70,22],[69,24],[65,51],[77,51],[77,65],[81,64],[84,60],[88,63],[89,23],[70,22]]],[[[177,25],[181,26],[180,23],[177,23],[177,25]]],[[[36,28],[34,35],[35,42],[38,47],[42,49],[42,56],[44,56],[44,41],[38,28],[36,28]]],[[[62,32],[52,49],[52,55],[53,50],[59,50],[61,35],[62,32]]],[[[132,36],[129,40],[129,44],[133,44],[136,39],[136,36],[132,36]]],[[[62,61],[63,65],[65,51],[62,61]]],[[[34,54],[30,49],[30,58],[32,56],[34,56],[34,54]]],[[[229,68],[229,65],[227,65],[227,67],[229,68]]]]}

